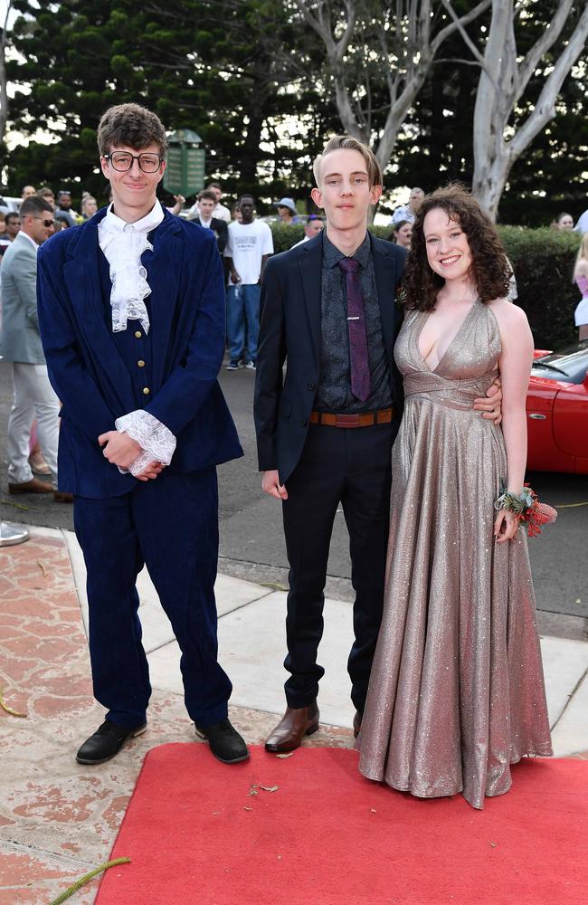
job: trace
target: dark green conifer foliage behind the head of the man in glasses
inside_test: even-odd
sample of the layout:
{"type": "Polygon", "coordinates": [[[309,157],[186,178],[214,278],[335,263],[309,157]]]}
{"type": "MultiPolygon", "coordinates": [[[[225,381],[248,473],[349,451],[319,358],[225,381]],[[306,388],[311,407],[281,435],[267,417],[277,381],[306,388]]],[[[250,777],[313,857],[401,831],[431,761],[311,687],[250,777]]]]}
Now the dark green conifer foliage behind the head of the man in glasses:
{"type": "Polygon", "coordinates": [[[77,178],[97,191],[103,180],[89,151],[100,115],[135,100],[156,110],[169,129],[195,129],[207,149],[208,175],[222,176],[229,190],[254,190],[260,175],[274,195],[303,190],[334,111],[321,101],[318,123],[309,128],[308,110],[319,107],[308,72],[312,41],[289,23],[280,3],[17,3],[20,60],[10,75],[24,87],[13,103],[14,128],[41,129],[58,142],[16,149],[12,183],[77,178]]]}

